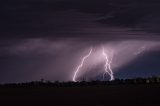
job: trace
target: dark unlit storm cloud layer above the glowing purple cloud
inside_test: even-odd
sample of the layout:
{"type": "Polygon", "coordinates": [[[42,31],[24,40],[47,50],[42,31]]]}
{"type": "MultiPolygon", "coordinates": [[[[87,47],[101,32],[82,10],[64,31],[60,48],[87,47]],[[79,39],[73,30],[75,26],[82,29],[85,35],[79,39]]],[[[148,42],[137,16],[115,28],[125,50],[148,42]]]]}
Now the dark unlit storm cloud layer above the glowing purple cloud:
{"type": "MultiPolygon", "coordinates": [[[[2,37],[126,38],[114,34],[121,32],[117,27],[159,32],[159,5],[155,0],[2,0],[0,33],[2,37]]],[[[149,35],[128,38],[137,36],[149,35]]]]}

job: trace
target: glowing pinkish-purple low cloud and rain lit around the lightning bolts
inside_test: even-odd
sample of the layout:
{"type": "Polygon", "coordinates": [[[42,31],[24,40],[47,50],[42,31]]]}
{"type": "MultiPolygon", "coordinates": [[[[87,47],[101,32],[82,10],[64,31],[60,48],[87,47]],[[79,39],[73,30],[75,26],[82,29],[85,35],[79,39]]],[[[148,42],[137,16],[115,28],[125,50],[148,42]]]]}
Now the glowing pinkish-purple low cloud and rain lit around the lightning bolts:
{"type": "MultiPolygon", "coordinates": [[[[45,78],[49,80],[69,81],[72,80],[76,67],[90,48],[93,48],[91,56],[86,60],[84,66],[77,75],[88,80],[104,73],[105,58],[102,55],[102,46],[109,58],[113,58],[111,67],[114,73],[119,68],[131,63],[139,56],[153,51],[160,51],[160,43],[146,40],[124,40],[124,41],[84,41],[80,39],[27,39],[23,42],[8,45],[5,55],[16,57],[13,78],[16,73],[22,72],[26,79],[38,80],[45,78]],[[27,58],[26,58],[27,57],[27,58]],[[18,59],[20,58],[20,59],[18,59]],[[21,65],[21,66],[19,66],[21,65]],[[17,70],[17,71],[16,71],[17,70]],[[18,71],[19,70],[19,71],[18,71]],[[34,71],[33,71],[34,70],[34,71]],[[28,77],[29,78],[28,78],[28,77]]],[[[10,65],[11,65],[10,64],[10,65]]],[[[7,63],[5,64],[6,66],[7,63]]],[[[3,70],[6,68],[4,67],[3,70]]],[[[8,73],[10,70],[8,70],[8,73]]],[[[4,73],[7,77],[8,74],[4,73]]],[[[12,79],[11,77],[11,79],[12,79]]]]}

